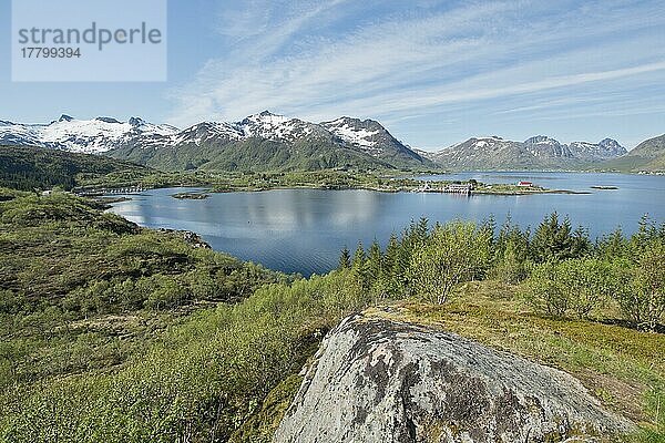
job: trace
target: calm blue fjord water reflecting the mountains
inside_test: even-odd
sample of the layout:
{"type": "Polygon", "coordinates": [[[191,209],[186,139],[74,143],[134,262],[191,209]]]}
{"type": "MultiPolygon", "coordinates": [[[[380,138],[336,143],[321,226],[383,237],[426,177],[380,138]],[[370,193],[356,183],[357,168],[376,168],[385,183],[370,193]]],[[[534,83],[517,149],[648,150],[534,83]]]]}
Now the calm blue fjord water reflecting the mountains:
{"type": "Polygon", "coordinates": [[[116,203],[112,212],[151,228],[192,230],[214,249],[285,272],[327,272],[337,266],[340,249],[351,251],[360,240],[376,238],[385,246],[391,233],[411,219],[430,223],[454,218],[481,222],[493,215],[501,225],[535,227],[554,210],[569,215],[573,225],[587,227],[592,239],[621,226],[631,234],[648,214],[665,220],[665,176],[582,173],[462,173],[427,179],[470,179],[483,183],[530,181],[555,189],[590,192],[585,195],[528,196],[370,190],[275,189],[255,193],[211,194],[202,200],[176,199],[182,188],[154,189],[116,203]],[[591,186],[616,186],[600,190],[591,186]]]}

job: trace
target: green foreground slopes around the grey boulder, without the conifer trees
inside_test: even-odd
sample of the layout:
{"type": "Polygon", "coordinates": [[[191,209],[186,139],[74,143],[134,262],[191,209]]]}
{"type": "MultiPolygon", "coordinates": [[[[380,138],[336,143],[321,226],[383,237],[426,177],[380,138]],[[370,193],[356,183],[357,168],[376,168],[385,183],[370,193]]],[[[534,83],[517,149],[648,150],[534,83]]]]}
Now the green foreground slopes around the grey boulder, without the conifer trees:
{"type": "MultiPolygon", "coordinates": [[[[352,272],[262,286],[279,278],[85,200],[2,196],[14,199],[0,203],[0,441],[268,442],[323,334],[387,302],[352,272]],[[98,293],[91,280],[112,290],[98,293]],[[186,295],[151,303],[173,296],[171,282],[186,295]],[[252,296],[225,303],[221,292],[252,296]]],[[[665,338],[539,317],[519,292],[468,284],[444,307],[406,300],[389,315],[564,369],[652,431],[635,441],[663,441],[665,338]]]]}

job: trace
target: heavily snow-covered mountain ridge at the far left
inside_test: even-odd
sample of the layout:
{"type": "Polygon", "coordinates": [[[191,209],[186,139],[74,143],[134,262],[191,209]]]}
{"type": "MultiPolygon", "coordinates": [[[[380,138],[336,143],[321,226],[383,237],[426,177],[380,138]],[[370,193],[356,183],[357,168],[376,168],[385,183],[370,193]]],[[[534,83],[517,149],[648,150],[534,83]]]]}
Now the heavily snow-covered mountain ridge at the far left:
{"type": "Polygon", "coordinates": [[[76,120],[63,114],[49,124],[1,122],[0,144],[99,154],[126,144],[154,143],[177,132],[176,127],[147,123],[139,117],[120,122],[111,117],[76,120]]]}

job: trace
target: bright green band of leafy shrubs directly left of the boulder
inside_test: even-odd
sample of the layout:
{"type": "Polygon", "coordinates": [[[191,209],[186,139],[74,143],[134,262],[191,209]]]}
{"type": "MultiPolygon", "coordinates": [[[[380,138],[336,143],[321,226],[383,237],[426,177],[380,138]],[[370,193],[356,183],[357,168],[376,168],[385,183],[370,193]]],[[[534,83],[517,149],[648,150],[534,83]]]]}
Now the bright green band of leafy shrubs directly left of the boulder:
{"type": "MultiPolygon", "coordinates": [[[[340,271],[265,286],[193,316],[116,371],[19,384],[0,395],[0,441],[227,441],[244,423],[264,433],[250,419],[283,411],[297,379],[268,393],[342,316],[371,302],[354,280],[340,271]]],[[[92,337],[72,348],[81,365],[92,364],[92,337]]]]}

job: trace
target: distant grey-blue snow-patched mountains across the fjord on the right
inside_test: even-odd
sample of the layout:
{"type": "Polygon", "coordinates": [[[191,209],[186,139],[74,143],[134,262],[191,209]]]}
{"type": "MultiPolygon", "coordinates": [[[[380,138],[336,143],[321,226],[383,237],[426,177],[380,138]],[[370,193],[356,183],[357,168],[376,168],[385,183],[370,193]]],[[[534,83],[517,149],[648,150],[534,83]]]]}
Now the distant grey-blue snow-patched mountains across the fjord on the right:
{"type": "Polygon", "coordinates": [[[536,135],[524,142],[499,136],[472,137],[429,155],[430,159],[453,169],[565,168],[624,155],[627,151],[615,140],[598,143],[572,142],[536,135]]]}

